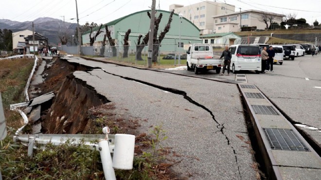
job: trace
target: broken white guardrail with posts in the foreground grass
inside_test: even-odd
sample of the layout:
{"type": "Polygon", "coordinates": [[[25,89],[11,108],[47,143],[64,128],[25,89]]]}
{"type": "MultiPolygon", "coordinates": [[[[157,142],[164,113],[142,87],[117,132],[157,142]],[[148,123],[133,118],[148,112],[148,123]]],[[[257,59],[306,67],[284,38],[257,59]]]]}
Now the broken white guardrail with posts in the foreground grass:
{"type": "Polygon", "coordinates": [[[109,128],[104,127],[103,134],[24,134],[14,136],[14,142],[28,146],[28,156],[33,149],[45,149],[45,145],[84,144],[99,150],[106,180],[116,180],[114,169],[129,170],[133,168],[135,136],[130,134],[108,135],[109,128]],[[93,142],[98,142],[93,143],[93,142]],[[113,158],[111,158],[113,153],[113,158]]]}

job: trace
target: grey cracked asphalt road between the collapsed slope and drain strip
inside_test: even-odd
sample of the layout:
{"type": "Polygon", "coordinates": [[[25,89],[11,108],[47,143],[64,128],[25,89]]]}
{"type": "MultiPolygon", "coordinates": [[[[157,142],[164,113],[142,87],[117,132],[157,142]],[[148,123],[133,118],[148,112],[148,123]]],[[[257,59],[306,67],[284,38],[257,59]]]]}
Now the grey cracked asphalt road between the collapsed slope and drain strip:
{"type": "Polygon", "coordinates": [[[182,160],[173,166],[182,177],[256,179],[236,85],[81,58],[69,61],[102,68],[74,75],[114,103],[119,114],[147,119],[140,122],[140,132],[163,126],[168,139],[162,146],[179,155],[171,154],[182,160]]]}

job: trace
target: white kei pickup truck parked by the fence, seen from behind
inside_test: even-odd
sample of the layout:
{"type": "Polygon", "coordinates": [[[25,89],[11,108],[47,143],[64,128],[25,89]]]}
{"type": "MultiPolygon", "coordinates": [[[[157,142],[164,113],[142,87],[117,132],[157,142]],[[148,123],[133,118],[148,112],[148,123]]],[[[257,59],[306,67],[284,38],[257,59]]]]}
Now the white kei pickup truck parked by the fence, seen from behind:
{"type": "Polygon", "coordinates": [[[197,74],[200,71],[215,70],[220,73],[223,60],[213,58],[213,48],[210,44],[192,44],[187,53],[187,70],[197,74]]]}

